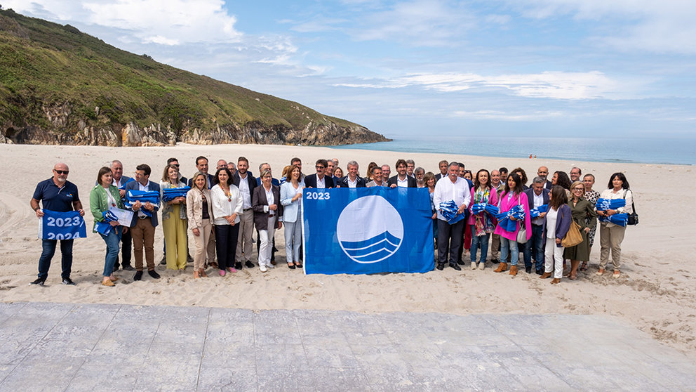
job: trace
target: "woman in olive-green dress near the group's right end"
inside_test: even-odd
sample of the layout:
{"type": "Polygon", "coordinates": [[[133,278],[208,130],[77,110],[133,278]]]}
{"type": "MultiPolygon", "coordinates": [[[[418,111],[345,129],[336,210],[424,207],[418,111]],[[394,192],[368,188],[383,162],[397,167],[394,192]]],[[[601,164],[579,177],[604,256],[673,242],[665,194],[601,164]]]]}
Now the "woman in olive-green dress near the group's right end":
{"type": "Polygon", "coordinates": [[[570,206],[570,212],[573,214],[573,221],[580,226],[580,235],[582,235],[580,244],[575,245],[575,247],[565,248],[563,253],[565,259],[570,259],[570,275],[568,275],[570,280],[577,279],[577,266],[580,264],[580,261],[589,261],[589,237],[587,233],[597,224],[597,214],[594,211],[594,205],[587,201],[584,195],[585,185],[582,181],[575,181],[570,185],[568,206],[570,206]],[[589,218],[589,223],[587,223],[585,218],[589,218]]]}

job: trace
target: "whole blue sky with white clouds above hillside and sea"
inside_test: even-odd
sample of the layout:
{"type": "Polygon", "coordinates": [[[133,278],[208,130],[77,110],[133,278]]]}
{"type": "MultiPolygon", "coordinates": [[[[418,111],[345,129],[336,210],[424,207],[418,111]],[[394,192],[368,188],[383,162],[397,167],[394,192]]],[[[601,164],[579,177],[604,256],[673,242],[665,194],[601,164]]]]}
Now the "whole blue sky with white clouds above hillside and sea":
{"type": "Polygon", "coordinates": [[[696,1],[4,0],[392,138],[696,138],[696,1]]]}

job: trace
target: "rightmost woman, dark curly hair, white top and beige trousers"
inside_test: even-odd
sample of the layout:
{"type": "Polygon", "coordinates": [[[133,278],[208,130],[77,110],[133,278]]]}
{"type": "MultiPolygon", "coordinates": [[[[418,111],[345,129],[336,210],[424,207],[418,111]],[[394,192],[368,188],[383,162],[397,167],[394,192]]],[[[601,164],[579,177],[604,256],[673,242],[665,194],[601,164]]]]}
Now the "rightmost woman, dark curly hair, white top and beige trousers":
{"type": "MultiPolygon", "coordinates": [[[[633,192],[629,186],[629,181],[623,173],[615,173],[609,177],[607,189],[599,195],[602,199],[623,199],[626,202],[624,207],[597,211],[598,216],[609,217],[615,214],[633,213],[633,192]]],[[[599,243],[601,244],[601,255],[599,259],[599,270],[597,275],[603,275],[609,261],[609,251],[611,251],[611,261],[614,265],[614,277],[621,275],[621,242],[624,240],[626,227],[615,225],[611,222],[602,222],[599,228],[599,243]]]]}

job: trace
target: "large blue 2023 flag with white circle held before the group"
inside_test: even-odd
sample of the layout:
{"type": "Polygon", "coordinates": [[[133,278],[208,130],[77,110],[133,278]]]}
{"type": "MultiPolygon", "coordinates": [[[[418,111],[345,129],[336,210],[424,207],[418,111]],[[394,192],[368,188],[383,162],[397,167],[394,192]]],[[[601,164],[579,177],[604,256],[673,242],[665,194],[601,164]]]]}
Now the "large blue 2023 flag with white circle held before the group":
{"type": "Polygon", "coordinates": [[[305,273],[424,273],[435,267],[427,188],[305,188],[305,273]]]}

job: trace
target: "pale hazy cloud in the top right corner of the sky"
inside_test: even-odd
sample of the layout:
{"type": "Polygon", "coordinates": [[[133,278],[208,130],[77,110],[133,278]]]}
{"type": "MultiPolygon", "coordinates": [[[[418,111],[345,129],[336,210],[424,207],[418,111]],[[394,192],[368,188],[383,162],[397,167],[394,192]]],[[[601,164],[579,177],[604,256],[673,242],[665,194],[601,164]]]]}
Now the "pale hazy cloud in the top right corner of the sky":
{"type": "Polygon", "coordinates": [[[510,4],[531,18],[609,19],[615,33],[598,40],[621,50],[696,53],[696,1],[514,0],[510,4]]]}

